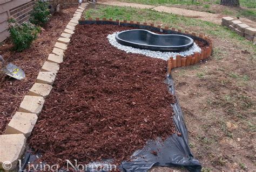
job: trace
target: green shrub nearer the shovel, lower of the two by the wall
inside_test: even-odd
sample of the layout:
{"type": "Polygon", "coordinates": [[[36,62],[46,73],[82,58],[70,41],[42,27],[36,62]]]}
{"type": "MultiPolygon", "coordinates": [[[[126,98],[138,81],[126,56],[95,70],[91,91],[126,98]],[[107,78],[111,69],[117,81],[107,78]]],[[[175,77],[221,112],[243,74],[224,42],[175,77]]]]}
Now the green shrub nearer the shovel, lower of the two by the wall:
{"type": "Polygon", "coordinates": [[[29,48],[32,41],[37,38],[37,34],[40,32],[40,27],[25,22],[23,24],[16,24],[16,20],[11,18],[9,22],[9,32],[12,43],[14,44],[15,51],[23,51],[23,49],[29,48]]]}

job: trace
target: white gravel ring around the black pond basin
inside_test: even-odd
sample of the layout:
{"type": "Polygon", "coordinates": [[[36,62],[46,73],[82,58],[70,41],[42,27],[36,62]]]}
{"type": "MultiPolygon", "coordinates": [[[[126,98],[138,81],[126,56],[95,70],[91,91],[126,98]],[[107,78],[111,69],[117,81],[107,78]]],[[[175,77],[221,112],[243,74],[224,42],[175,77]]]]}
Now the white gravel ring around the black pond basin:
{"type": "Polygon", "coordinates": [[[115,38],[117,33],[118,32],[114,32],[113,34],[107,35],[107,39],[109,39],[109,42],[112,46],[114,46],[118,49],[121,49],[121,50],[125,51],[126,53],[137,53],[137,54],[143,54],[146,56],[150,56],[151,58],[169,60],[170,57],[173,57],[173,59],[176,59],[176,55],[188,56],[188,55],[192,55],[196,52],[198,52],[198,53],[201,52],[201,48],[196,43],[194,43],[194,45],[191,48],[189,48],[183,52],[159,52],[159,51],[151,51],[149,49],[133,48],[130,46],[125,46],[125,45],[119,44],[115,38]]]}

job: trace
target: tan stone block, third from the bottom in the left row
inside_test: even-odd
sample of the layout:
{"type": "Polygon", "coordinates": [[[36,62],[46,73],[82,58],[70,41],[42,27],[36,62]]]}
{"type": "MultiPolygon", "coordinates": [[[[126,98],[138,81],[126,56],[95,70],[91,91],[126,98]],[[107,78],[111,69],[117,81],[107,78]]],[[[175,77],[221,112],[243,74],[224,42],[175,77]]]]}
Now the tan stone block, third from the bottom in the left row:
{"type": "Polygon", "coordinates": [[[23,98],[19,106],[19,112],[36,113],[39,115],[44,105],[44,98],[39,96],[28,96],[23,98]]]}

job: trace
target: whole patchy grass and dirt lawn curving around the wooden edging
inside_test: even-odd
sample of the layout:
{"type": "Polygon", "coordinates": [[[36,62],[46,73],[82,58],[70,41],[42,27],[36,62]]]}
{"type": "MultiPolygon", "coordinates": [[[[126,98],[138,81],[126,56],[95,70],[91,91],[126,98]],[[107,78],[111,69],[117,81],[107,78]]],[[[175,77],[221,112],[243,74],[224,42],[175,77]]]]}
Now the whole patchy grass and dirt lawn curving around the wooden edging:
{"type": "Polygon", "coordinates": [[[212,56],[172,71],[190,147],[204,164],[203,171],[256,168],[252,139],[256,131],[256,47],[252,42],[217,24],[150,9],[97,5],[84,16],[163,23],[208,35],[213,41],[212,56]]]}

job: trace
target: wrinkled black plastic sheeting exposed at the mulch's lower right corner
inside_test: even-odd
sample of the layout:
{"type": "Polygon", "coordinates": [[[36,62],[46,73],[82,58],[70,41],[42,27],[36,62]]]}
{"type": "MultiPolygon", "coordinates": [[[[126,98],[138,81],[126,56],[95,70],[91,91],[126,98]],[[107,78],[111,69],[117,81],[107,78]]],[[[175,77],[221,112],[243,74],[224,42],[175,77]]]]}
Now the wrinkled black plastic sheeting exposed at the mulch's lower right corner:
{"type": "Polygon", "coordinates": [[[197,159],[194,159],[188,146],[187,128],[179,101],[175,95],[171,75],[167,77],[166,83],[169,91],[176,99],[176,103],[171,104],[174,112],[173,122],[181,136],[179,137],[175,133],[164,142],[161,140],[147,142],[142,150],[133,154],[132,162],[122,162],[121,167],[124,171],[147,171],[152,166],[185,167],[190,171],[201,171],[201,164],[197,159]],[[152,151],[156,151],[157,156],[152,154],[152,151]]]}

